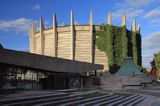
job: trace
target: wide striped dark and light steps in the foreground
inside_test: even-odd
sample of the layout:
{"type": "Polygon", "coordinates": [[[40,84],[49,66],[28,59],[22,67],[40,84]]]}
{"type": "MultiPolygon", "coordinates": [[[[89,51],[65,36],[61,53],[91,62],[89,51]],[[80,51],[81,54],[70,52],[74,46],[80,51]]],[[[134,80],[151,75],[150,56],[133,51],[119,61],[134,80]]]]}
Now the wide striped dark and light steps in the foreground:
{"type": "Polygon", "coordinates": [[[104,94],[84,98],[68,93],[53,93],[47,95],[0,100],[0,106],[134,106],[146,97],[139,94],[120,96],[104,94]]]}

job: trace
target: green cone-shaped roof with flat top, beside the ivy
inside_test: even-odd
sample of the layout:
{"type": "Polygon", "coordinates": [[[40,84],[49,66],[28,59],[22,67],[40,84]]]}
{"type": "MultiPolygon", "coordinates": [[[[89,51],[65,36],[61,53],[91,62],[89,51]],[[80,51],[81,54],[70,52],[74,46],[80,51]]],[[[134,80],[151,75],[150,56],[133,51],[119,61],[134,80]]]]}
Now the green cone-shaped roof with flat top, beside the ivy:
{"type": "Polygon", "coordinates": [[[136,74],[142,74],[137,66],[134,64],[132,57],[125,58],[120,69],[116,74],[119,75],[136,75],[136,74]]]}

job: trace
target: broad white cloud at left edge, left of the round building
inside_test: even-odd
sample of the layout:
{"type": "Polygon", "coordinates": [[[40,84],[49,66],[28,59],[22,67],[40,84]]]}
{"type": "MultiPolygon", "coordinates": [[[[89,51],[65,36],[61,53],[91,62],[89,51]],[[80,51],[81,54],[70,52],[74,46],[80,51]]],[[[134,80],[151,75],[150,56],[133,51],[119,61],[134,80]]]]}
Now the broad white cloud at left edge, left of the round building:
{"type": "Polygon", "coordinates": [[[26,18],[19,18],[15,20],[0,20],[1,31],[16,31],[16,32],[28,32],[31,26],[32,20],[26,18]]]}

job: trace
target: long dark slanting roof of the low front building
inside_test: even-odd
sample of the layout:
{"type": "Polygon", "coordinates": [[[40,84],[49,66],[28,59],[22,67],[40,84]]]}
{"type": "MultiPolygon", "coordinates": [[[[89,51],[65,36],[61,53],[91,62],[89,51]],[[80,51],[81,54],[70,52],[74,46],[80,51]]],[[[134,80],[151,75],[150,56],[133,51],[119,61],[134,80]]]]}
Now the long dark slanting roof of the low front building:
{"type": "Polygon", "coordinates": [[[0,49],[0,63],[50,72],[81,73],[103,69],[103,65],[100,64],[73,61],[8,49],[0,49]]]}

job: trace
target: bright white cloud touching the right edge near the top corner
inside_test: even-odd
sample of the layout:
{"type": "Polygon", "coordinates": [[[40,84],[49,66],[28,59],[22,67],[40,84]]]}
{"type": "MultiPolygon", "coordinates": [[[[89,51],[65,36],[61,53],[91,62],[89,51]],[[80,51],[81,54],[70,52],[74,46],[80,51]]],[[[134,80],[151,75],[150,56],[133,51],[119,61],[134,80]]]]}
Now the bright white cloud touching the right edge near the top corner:
{"type": "Polygon", "coordinates": [[[158,16],[160,16],[160,7],[157,7],[156,9],[153,9],[149,11],[148,13],[146,13],[144,18],[153,18],[153,17],[158,17],[158,16]]]}

